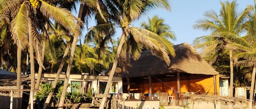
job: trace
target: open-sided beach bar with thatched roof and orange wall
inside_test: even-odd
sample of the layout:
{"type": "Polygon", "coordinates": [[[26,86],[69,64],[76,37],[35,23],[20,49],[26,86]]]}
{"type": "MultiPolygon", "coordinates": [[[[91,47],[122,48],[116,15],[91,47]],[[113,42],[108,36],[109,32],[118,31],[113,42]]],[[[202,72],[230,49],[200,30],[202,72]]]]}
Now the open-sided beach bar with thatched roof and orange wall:
{"type": "Polygon", "coordinates": [[[158,99],[159,105],[183,106],[186,94],[219,94],[218,72],[192,46],[178,44],[175,53],[175,57],[170,57],[170,66],[149,50],[143,51],[139,60],[131,60],[121,73],[124,98],[158,99]]]}

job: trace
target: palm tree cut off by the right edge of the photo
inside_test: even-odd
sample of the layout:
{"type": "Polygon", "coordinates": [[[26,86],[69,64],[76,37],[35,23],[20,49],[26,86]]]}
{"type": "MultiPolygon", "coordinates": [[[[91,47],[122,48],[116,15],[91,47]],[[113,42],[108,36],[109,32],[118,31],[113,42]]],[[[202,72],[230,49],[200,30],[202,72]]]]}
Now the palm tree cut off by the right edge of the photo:
{"type": "Polygon", "coordinates": [[[231,47],[237,47],[240,52],[235,55],[240,61],[236,62],[237,66],[253,67],[252,70],[252,81],[249,96],[249,109],[253,109],[253,96],[255,90],[255,74],[256,74],[256,3],[254,0],[254,7],[248,6],[251,10],[249,14],[249,22],[246,25],[247,36],[244,38],[248,41],[249,46],[241,46],[239,44],[231,44],[231,47]]]}

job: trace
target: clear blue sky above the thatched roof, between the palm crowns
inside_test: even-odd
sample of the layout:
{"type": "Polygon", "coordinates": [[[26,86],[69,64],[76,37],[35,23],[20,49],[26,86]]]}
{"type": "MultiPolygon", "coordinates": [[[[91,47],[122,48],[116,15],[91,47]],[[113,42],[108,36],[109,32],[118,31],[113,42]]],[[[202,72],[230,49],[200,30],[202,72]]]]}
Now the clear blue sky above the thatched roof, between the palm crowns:
{"type": "MultiPolygon", "coordinates": [[[[225,1],[223,1],[225,2],[225,1]]],[[[221,9],[220,1],[218,0],[169,0],[171,5],[171,11],[164,9],[153,9],[148,12],[147,15],[141,16],[141,18],[133,24],[137,27],[141,22],[146,21],[147,18],[152,18],[154,15],[158,15],[165,20],[165,23],[171,27],[171,31],[176,36],[175,41],[171,41],[174,44],[180,44],[187,42],[193,43],[196,37],[208,35],[206,31],[193,29],[193,24],[199,19],[205,18],[204,13],[208,10],[214,10],[219,14],[221,9]]],[[[244,10],[248,4],[254,4],[253,0],[237,0],[237,9],[239,12],[244,10]]]]}

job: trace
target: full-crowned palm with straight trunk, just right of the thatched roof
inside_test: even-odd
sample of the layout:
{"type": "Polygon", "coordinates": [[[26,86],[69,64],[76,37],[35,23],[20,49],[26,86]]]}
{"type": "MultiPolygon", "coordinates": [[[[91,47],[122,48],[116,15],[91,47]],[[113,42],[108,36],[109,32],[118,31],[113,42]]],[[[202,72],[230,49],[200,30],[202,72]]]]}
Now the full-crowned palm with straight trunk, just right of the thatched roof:
{"type": "MultiPolygon", "coordinates": [[[[227,50],[230,42],[241,43],[243,39],[239,36],[245,27],[246,14],[248,9],[237,14],[236,2],[221,2],[222,8],[219,15],[214,11],[207,11],[205,19],[198,20],[194,25],[195,29],[210,30],[211,35],[201,36],[194,40],[194,47],[201,48],[203,57],[211,56],[212,61],[216,60],[219,53],[227,50]],[[225,50],[226,49],[226,50],[225,50]]],[[[245,43],[244,43],[245,44],[245,43]]],[[[230,59],[230,93],[233,97],[233,49],[229,50],[230,59]]]]}

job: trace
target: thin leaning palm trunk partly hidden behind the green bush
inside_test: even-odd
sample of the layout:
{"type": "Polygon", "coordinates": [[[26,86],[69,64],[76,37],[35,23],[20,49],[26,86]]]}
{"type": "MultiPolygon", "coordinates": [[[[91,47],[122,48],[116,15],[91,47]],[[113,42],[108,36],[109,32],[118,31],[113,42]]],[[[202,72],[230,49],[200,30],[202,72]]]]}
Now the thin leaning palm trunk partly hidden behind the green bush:
{"type": "MultiPolygon", "coordinates": [[[[68,51],[69,51],[69,48],[70,48],[70,42],[68,43],[67,47],[66,47],[66,50],[64,52],[64,55],[62,57],[62,60],[61,60],[61,65],[59,65],[58,67],[58,71],[57,71],[57,74],[56,74],[56,78],[54,79],[54,81],[52,82],[52,88],[55,89],[56,86],[57,86],[57,83],[58,83],[58,79],[59,79],[59,75],[61,75],[61,70],[64,66],[64,63],[67,59],[67,56],[68,56],[68,51]]],[[[49,105],[50,101],[51,101],[51,97],[52,97],[52,94],[53,92],[50,92],[49,95],[47,96],[46,100],[45,100],[45,103],[44,103],[44,109],[47,108],[47,106],[49,105]]]]}

